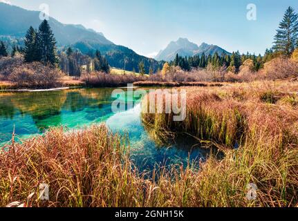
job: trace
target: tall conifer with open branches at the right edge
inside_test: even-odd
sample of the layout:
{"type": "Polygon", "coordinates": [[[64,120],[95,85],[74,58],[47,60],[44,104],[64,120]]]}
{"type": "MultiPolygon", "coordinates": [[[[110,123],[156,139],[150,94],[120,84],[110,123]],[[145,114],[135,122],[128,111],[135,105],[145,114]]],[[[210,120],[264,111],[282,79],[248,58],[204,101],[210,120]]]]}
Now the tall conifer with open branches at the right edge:
{"type": "Polygon", "coordinates": [[[273,49],[290,55],[297,47],[298,41],[298,15],[294,9],[289,7],[286,10],[283,20],[279,23],[277,35],[274,37],[273,49]]]}

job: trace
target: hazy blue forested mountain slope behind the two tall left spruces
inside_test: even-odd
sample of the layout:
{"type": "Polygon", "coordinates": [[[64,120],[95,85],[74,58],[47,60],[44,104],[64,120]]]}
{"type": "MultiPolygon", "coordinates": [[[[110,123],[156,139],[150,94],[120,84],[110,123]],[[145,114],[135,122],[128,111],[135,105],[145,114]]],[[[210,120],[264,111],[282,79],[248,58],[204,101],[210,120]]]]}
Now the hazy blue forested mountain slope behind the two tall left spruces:
{"type": "MultiPolygon", "coordinates": [[[[25,10],[17,6],[0,2],[0,39],[21,44],[30,26],[38,28],[41,20],[39,11],[25,10]]],[[[48,20],[57,40],[58,47],[72,46],[82,53],[100,50],[106,56],[109,64],[115,68],[138,70],[138,64],[143,61],[145,69],[158,70],[162,64],[155,59],[138,55],[133,50],[114,44],[101,32],[84,28],[82,25],[64,24],[50,17],[48,20]]]]}

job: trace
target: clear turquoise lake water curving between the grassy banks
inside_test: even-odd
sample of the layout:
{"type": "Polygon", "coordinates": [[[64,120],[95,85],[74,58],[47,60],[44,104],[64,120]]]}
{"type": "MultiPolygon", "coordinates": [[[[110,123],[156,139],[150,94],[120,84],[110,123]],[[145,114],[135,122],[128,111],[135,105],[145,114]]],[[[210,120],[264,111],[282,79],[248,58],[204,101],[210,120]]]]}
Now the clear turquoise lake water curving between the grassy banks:
{"type": "MultiPolygon", "coordinates": [[[[189,137],[172,146],[158,146],[150,139],[140,119],[140,104],[112,113],[113,89],[80,88],[59,91],[0,93],[0,146],[9,142],[13,128],[19,139],[43,133],[51,126],[80,128],[105,122],[113,132],[127,133],[131,158],[142,171],[156,164],[187,164],[205,159],[208,151],[192,148],[189,137]]],[[[127,102],[126,97],[121,97],[127,102]]]]}

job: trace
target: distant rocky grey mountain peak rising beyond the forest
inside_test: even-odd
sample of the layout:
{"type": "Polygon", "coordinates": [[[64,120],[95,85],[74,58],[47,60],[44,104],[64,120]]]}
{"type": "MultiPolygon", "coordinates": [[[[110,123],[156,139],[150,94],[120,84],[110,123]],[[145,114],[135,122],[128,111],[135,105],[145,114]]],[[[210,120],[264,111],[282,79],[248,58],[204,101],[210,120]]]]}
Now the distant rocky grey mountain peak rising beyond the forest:
{"type": "Polygon", "coordinates": [[[186,38],[180,38],[177,41],[171,41],[167,48],[160,50],[156,59],[158,61],[173,61],[177,54],[182,57],[191,57],[194,55],[202,55],[203,53],[205,53],[205,55],[214,55],[216,52],[218,55],[222,55],[223,53],[230,55],[230,52],[227,52],[221,47],[206,43],[198,46],[186,38]]]}

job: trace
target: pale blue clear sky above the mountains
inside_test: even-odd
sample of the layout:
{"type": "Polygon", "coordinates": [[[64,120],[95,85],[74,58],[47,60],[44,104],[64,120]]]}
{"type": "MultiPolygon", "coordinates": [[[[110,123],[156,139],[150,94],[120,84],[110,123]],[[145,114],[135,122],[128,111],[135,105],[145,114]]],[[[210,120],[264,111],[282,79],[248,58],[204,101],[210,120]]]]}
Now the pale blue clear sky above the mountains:
{"type": "Polygon", "coordinates": [[[46,3],[50,17],[102,32],[113,43],[147,57],[179,37],[198,45],[215,44],[229,52],[263,54],[271,48],[288,6],[298,12],[297,0],[0,1],[28,10],[39,10],[46,3]],[[255,10],[249,4],[254,4],[255,10]]]}

